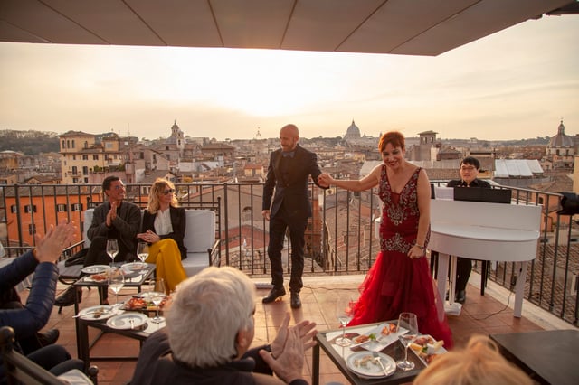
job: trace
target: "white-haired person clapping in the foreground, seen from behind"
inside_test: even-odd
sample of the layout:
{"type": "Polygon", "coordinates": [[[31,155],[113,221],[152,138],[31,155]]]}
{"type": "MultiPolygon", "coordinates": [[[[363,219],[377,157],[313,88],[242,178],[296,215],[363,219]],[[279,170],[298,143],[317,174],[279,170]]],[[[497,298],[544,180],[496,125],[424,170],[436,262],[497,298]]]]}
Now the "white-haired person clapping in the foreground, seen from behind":
{"type": "Polygon", "coordinates": [[[288,313],[270,345],[250,349],[254,313],[249,277],[236,268],[204,268],[177,286],[166,330],[143,344],[131,383],[307,384],[304,352],[315,344],[316,324],[289,326],[288,313]]]}

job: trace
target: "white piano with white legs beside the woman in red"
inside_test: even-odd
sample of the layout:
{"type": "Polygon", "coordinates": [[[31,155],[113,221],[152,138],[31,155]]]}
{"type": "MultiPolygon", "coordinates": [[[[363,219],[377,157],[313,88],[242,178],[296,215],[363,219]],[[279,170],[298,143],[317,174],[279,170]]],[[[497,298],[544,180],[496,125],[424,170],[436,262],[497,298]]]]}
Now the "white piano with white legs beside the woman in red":
{"type": "MultiPolygon", "coordinates": [[[[456,277],[456,257],[520,262],[515,289],[514,315],[521,316],[527,262],[536,258],[542,206],[519,204],[431,200],[429,249],[439,252],[438,290],[446,295],[449,277],[456,277]]],[[[450,293],[454,293],[450,280],[450,293]]],[[[460,304],[445,305],[449,313],[460,314],[460,304]]]]}

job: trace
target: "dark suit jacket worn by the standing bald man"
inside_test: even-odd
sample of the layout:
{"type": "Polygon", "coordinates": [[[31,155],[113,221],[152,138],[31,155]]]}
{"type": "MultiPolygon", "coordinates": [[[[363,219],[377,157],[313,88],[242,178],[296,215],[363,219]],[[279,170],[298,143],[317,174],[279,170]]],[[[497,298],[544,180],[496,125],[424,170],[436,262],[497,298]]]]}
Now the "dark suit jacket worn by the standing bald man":
{"type": "MultiPolygon", "coordinates": [[[[270,210],[274,217],[283,204],[290,216],[297,218],[311,217],[311,202],[309,202],[308,182],[309,176],[318,186],[318,176],[322,174],[318,166],[318,156],[311,151],[296,146],[295,155],[289,160],[289,170],[282,173],[281,148],[273,151],[270,155],[268,173],[263,185],[262,210],[270,210]],[[275,195],[274,193],[275,188],[275,195]],[[273,197],[273,202],[271,198],[273,197]]],[[[325,188],[321,187],[320,188],[325,188]]]]}

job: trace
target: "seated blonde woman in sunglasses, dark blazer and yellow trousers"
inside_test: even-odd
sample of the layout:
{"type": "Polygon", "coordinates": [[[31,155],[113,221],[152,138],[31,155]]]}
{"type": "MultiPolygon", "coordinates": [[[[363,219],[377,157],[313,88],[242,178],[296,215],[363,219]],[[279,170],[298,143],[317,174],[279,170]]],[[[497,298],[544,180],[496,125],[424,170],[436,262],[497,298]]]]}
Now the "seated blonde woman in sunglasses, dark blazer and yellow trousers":
{"type": "Polygon", "coordinates": [[[142,232],[137,234],[149,244],[146,262],[157,265],[157,277],[165,279],[167,294],[187,277],[181,264],[181,259],[187,257],[183,244],[185,209],[176,206],[175,185],[158,178],[148,196],[142,232]]]}

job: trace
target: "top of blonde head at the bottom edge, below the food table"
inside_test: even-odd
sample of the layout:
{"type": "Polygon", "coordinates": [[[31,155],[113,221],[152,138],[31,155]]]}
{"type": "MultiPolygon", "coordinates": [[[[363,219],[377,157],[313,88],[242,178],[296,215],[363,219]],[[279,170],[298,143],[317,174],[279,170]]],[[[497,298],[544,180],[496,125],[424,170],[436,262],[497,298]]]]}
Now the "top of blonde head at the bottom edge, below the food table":
{"type": "Polygon", "coordinates": [[[437,356],[413,381],[414,385],[532,385],[524,371],[508,362],[497,345],[473,335],[465,349],[437,356]]]}

